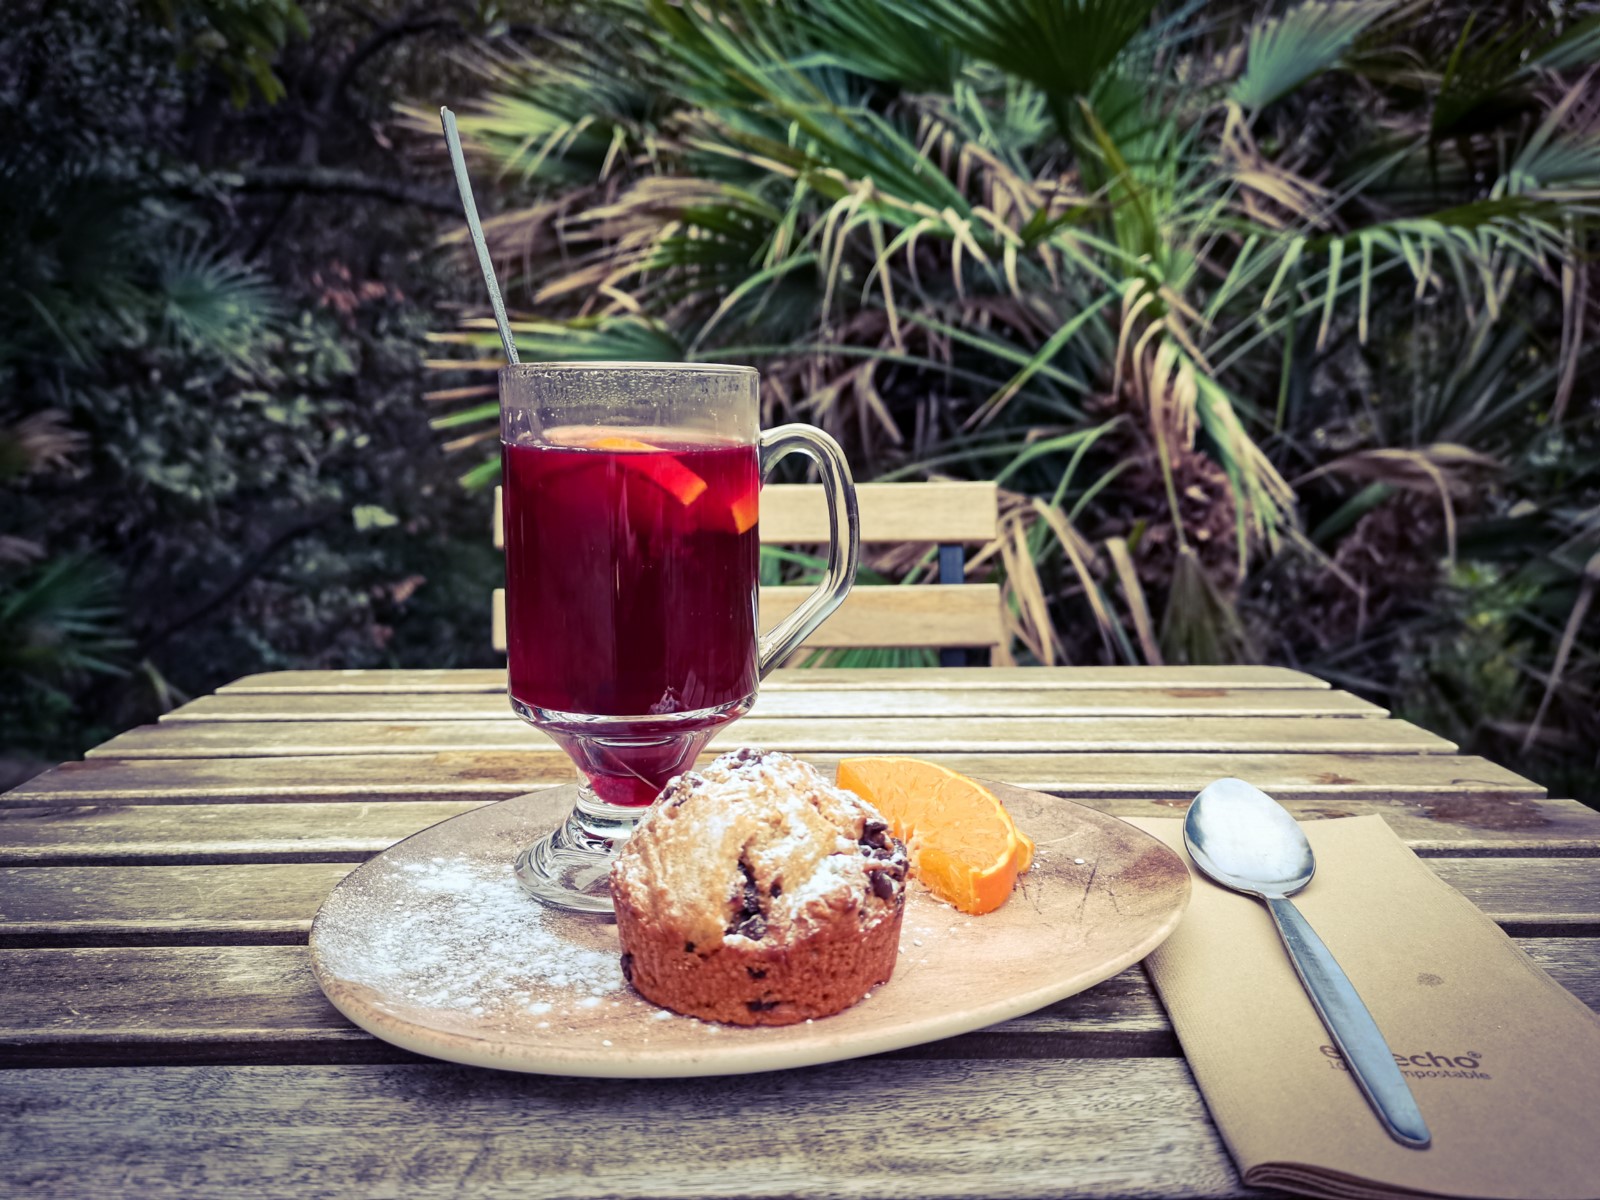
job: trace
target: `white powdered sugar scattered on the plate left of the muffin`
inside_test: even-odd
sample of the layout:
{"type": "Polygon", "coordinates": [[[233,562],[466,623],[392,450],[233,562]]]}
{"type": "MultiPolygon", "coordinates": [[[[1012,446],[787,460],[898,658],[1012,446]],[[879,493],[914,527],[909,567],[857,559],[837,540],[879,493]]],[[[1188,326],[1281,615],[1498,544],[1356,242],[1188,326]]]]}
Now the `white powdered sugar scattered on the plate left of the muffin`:
{"type": "Polygon", "coordinates": [[[626,990],[616,950],[562,936],[506,862],[400,862],[339,888],[328,906],[318,938],[325,970],[406,1006],[541,1014],[626,990]]]}

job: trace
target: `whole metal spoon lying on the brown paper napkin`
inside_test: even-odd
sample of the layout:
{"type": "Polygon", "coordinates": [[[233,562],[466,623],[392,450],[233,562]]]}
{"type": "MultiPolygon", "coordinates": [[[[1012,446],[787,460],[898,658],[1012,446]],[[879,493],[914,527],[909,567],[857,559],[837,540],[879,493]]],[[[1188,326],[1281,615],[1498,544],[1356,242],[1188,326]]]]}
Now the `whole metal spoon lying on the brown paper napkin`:
{"type": "Polygon", "coordinates": [[[1427,1122],[1378,1022],[1322,938],[1288,899],[1310,883],[1317,870],[1299,822],[1243,779],[1218,779],[1189,805],[1184,845],[1200,870],[1224,888],[1266,902],[1294,973],[1366,1102],[1390,1138],[1402,1146],[1426,1147],[1432,1141],[1427,1122]]]}

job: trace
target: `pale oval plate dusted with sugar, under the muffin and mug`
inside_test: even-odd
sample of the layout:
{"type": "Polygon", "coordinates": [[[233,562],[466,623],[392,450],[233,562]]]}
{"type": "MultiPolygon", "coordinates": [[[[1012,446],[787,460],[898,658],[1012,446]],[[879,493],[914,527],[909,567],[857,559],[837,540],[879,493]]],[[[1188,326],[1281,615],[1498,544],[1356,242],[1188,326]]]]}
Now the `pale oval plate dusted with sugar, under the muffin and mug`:
{"type": "Polygon", "coordinates": [[[894,978],[854,1008],[771,1029],[677,1016],[622,982],[616,926],[523,898],[510,869],[573,787],[474,810],[397,843],[328,896],[310,931],[328,998],[362,1029],[453,1062],[552,1075],[736,1075],[875,1054],[1030,1013],[1154,950],[1189,870],[1133,826],[990,784],[1038,843],[997,912],[907,888],[894,978]]]}

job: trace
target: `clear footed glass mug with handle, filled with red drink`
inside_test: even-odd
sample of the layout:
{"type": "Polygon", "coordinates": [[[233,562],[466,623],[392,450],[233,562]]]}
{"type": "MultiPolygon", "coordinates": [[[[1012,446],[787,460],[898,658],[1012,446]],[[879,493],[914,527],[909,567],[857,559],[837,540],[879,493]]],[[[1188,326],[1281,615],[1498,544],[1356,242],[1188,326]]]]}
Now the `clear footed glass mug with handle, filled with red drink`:
{"type": "Polygon", "coordinates": [[[578,802],[517,859],[565,909],[611,909],[613,853],[757,683],[850,592],[845,456],[811,426],[762,432],[758,374],[709,363],[522,363],[499,373],[510,706],[578,766],[578,802]],[[827,573],[757,626],[762,478],[821,469],[827,573]]]}

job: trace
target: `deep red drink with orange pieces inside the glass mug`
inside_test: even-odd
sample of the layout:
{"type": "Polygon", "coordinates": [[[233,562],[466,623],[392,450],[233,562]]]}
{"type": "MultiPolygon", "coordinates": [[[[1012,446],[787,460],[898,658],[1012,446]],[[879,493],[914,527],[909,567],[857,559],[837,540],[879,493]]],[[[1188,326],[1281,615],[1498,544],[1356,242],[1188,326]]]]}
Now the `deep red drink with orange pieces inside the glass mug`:
{"type": "Polygon", "coordinates": [[[510,694],[558,714],[634,718],[594,733],[643,744],[598,752],[570,742],[574,725],[544,728],[602,800],[646,805],[733,718],[650,717],[755,693],[755,446],[654,430],[560,440],[502,446],[510,694]]]}

